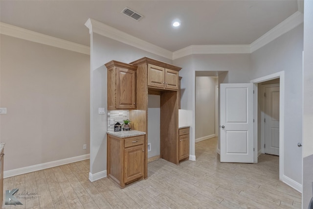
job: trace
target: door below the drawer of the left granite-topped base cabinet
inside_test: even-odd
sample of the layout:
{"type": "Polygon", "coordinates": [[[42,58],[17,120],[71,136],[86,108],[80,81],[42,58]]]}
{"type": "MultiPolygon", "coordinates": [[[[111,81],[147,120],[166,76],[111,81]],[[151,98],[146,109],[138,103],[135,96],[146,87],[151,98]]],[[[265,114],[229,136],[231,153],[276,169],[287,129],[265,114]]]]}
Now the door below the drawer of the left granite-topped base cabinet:
{"type": "Polygon", "coordinates": [[[144,146],[125,148],[124,181],[131,182],[143,178],[144,172],[144,146]]]}

